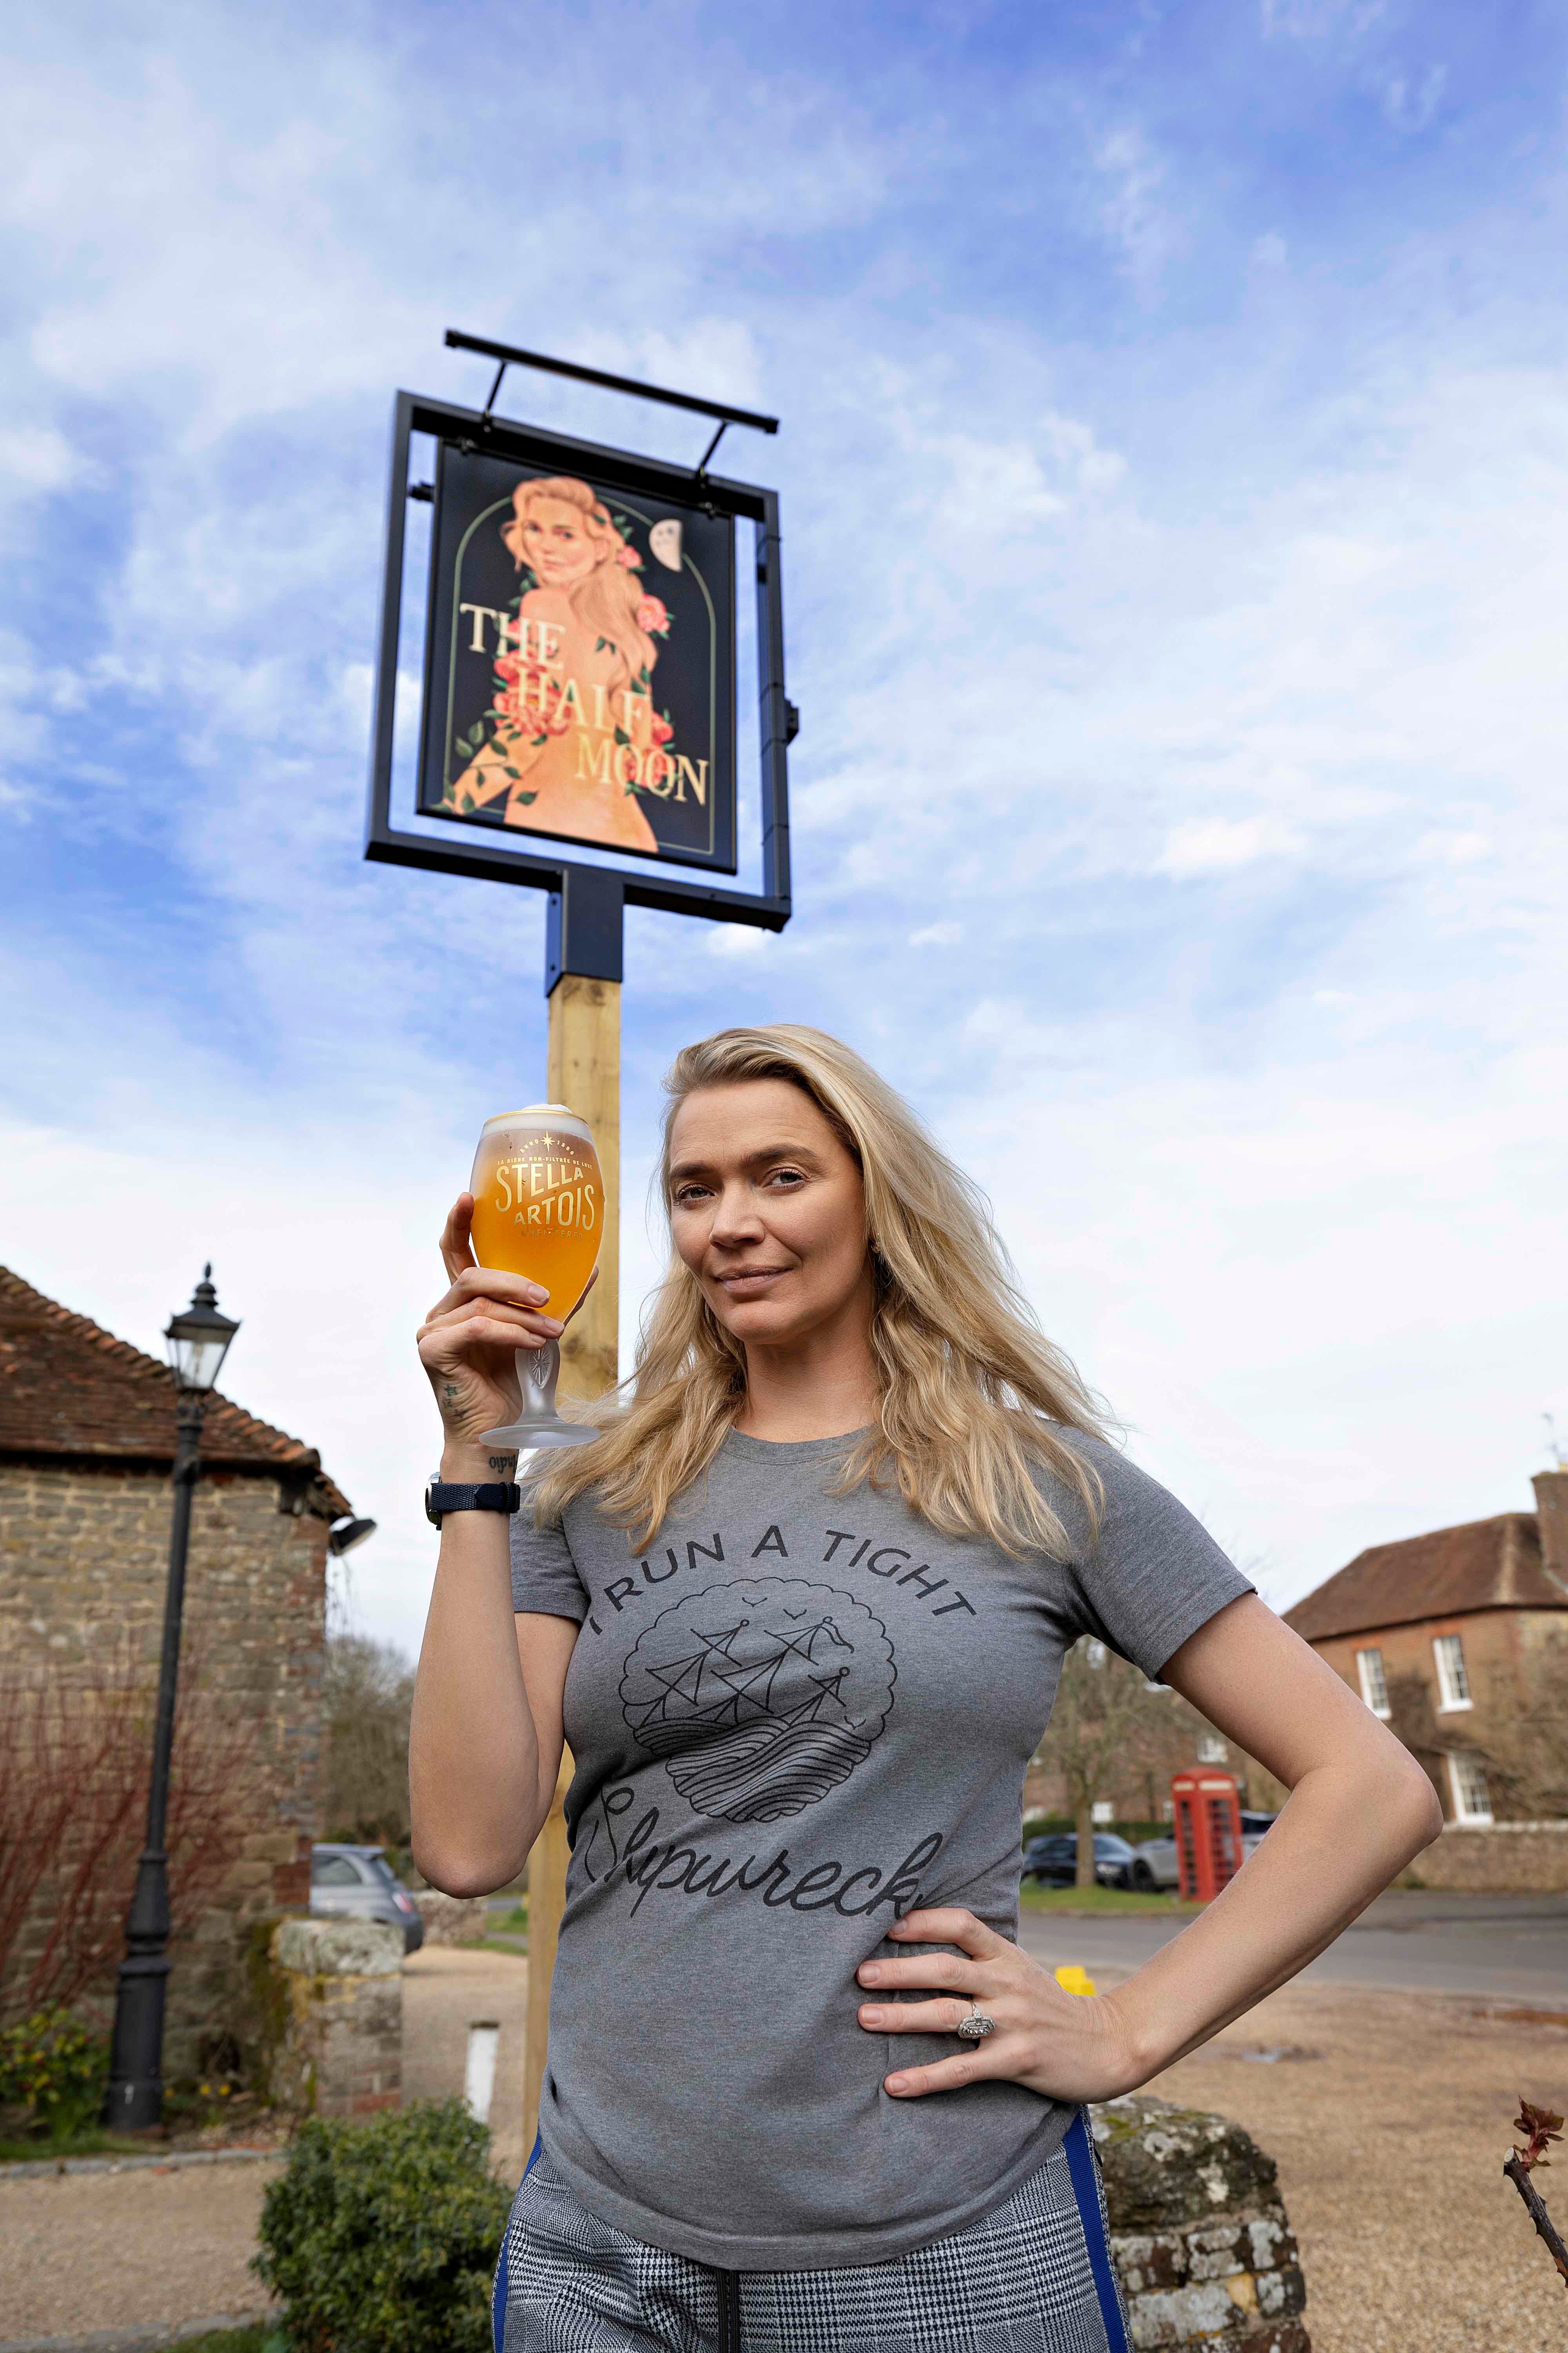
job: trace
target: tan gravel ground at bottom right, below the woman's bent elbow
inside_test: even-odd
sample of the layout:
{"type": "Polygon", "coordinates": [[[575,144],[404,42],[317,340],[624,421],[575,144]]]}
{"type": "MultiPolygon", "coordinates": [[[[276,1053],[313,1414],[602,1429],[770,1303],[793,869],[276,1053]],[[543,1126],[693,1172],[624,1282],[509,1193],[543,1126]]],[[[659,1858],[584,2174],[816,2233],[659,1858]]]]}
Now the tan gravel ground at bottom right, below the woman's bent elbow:
{"type": "MultiPolygon", "coordinates": [[[[1314,2353],[1568,2346],[1568,2294],[1502,2179],[1519,2097],[1568,2111],[1568,2019],[1288,1986],[1150,2089],[1234,2118],[1279,2160],[1314,2353]],[[1279,2045],[1319,2057],[1237,2059],[1279,2045]]],[[[1540,2188],[1563,2228],[1568,2167],[1540,2188]]]]}

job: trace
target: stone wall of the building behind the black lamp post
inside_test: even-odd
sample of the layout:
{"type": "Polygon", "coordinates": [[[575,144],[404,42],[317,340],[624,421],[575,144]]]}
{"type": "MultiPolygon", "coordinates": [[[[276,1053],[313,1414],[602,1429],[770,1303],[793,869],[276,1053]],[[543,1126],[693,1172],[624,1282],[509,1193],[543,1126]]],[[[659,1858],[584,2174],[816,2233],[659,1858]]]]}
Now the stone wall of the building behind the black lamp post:
{"type": "MultiPolygon", "coordinates": [[[[310,1901],[327,1522],[296,1513],[296,1494],[275,1473],[249,1471],[202,1471],[195,1489],[181,1689],[254,1727],[254,1805],[223,1887],[174,1948],[169,2080],[212,2064],[209,2038],[237,2024],[249,1925],[310,1901]]],[[[0,1673],[89,1685],[106,1661],[125,1661],[153,1694],[169,1513],[169,1475],[153,1464],[0,1461],[0,1673]]],[[[40,1934],[31,1922],[24,1951],[40,1934]]]]}

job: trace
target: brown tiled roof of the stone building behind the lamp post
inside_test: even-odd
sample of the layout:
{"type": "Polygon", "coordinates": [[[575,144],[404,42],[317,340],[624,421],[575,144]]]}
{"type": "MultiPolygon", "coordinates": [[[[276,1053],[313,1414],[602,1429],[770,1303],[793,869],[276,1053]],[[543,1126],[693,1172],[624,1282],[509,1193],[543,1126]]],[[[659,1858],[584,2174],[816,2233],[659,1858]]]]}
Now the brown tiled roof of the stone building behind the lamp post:
{"type": "MultiPolygon", "coordinates": [[[[174,1374],[155,1355],[0,1266],[0,1454],[172,1464],[174,1395],[174,1374]]],[[[315,1489],[315,1508],[334,1518],[348,1511],[313,1447],[216,1391],[202,1421],[202,1461],[294,1473],[315,1489]]]]}

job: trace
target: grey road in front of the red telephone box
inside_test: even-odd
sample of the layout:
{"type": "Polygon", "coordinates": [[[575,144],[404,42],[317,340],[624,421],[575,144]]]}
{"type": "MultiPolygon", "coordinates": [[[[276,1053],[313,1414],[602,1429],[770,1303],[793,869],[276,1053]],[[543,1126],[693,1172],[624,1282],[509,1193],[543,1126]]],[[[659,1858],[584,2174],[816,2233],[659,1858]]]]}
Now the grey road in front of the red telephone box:
{"type": "MultiPolygon", "coordinates": [[[[1025,1953],[1093,1974],[1131,1972],[1178,1937],[1185,1918],[1063,1918],[1025,1906],[1025,1953]]],[[[1476,1993],[1568,2012],[1568,1897],[1462,1897],[1389,1889],[1347,1927],[1302,1979],[1408,1993],[1476,1993]]]]}

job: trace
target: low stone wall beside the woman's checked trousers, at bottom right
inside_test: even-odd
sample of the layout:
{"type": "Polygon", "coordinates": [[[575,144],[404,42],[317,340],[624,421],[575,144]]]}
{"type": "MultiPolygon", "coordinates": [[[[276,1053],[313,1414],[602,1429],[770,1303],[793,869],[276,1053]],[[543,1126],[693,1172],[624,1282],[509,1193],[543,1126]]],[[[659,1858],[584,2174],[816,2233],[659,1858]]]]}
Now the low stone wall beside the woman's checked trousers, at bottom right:
{"type": "Polygon", "coordinates": [[[1135,2094],[1091,2111],[1138,2353],[1312,2353],[1272,2158],[1241,2125],[1135,2094]]]}

